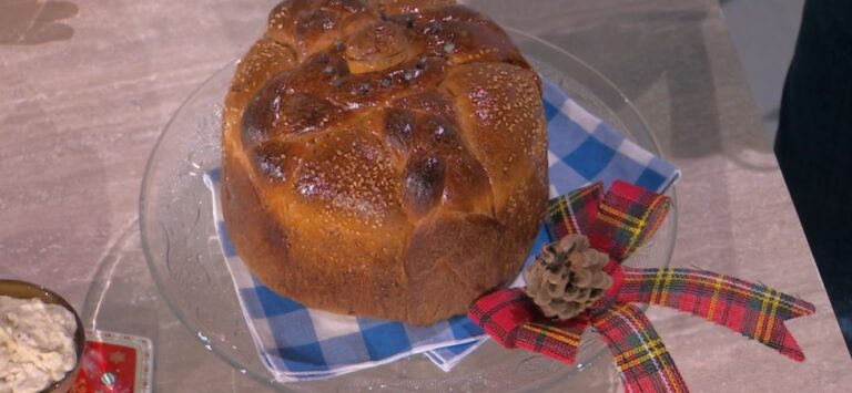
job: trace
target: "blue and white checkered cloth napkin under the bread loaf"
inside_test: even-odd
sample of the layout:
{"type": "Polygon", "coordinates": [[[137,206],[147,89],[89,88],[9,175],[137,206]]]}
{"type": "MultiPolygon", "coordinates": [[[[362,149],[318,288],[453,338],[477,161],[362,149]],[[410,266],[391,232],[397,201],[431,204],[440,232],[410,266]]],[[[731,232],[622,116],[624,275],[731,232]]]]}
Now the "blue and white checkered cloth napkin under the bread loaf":
{"type": "MultiPolygon", "coordinates": [[[[609,186],[615,179],[662,190],[679,176],[671,164],[602,124],[547,81],[544,104],[551,196],[590,182],[600,180],[609,186]]],[[[425,353],[436,365],[449,371],[485,340],[479,327],[465,316],[414,327],[307,309],[275,294],[252,277],[225,232],[220,211],[219,169],[207,172],[204,182],[213,194],[216,234],[243,314],[264,364],[278,381],[339,375],[414,353],[425,353]]],[[[531,250],[540,249],[547,241],[542,229],[531,250]]],[[[534,255],[531,251],[527,262],[534,255]]]]}

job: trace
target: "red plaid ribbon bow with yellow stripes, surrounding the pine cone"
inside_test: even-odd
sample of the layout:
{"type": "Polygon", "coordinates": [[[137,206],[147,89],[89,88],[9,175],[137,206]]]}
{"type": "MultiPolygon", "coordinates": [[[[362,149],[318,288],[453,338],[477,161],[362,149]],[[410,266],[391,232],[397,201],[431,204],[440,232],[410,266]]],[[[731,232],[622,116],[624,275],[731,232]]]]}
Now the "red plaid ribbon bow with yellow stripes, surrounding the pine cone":
{"type": "Polygon", "coordinates": [[[607,342],[627,392],[687,392],[650,321],[631,303],[667,306],[703,317],[803,361],[783,321],[814,312],[813,304],[762,285],[689,269],[635,269],[620,266],[662,224],[670,199],[622,182],[604,195],[600,183],[550,201],[551,240],[570,234],[589,238],[610,257],[605,270],[612,286],[582,314],[545,318],[520,288],[501,289],[477,300],[468,317],[498,343],[574,363],[580,337],[591,324],[607,342]]]}

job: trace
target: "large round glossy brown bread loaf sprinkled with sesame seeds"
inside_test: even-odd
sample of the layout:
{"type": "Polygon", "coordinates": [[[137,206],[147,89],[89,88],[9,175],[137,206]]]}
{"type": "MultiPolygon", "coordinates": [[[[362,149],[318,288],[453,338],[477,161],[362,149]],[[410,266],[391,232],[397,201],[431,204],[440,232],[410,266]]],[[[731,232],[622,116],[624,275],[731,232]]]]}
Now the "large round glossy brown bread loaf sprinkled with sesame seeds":
{"type": "Polygon", "coordinates": [[[284,1],[237,65],[222,166],[227,231],[268,288],[435,322],[514,279],[542,221],[540,83],[453,1],[284,1]]]}

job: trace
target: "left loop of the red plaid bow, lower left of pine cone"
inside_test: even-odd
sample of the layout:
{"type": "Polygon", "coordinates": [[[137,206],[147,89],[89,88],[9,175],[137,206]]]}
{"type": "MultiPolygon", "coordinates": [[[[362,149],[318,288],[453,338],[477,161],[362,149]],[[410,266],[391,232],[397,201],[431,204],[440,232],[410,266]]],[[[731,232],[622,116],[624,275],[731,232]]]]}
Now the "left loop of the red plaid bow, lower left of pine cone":
{"type": "Polygon", "coordinates": [[[474,323],[505,348],[521,348],[571,364],[585,321],[554,322],[542,319],[520,289],[486,294],[467,313],[474,323]]]}

